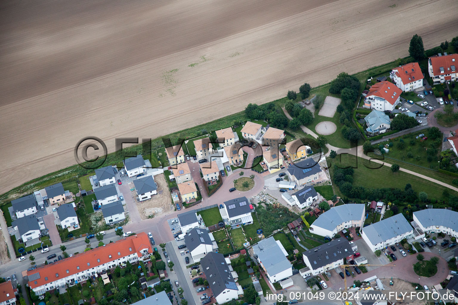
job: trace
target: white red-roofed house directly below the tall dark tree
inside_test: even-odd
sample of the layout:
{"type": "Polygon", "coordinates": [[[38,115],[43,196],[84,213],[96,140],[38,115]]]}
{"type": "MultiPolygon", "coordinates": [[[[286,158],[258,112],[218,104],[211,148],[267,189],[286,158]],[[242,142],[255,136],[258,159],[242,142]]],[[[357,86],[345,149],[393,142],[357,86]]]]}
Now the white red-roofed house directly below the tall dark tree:
{"type": "Polygon", "coordinates": [[[396,67],[391,70],[390,77],[401,91],[414,91],[423,87],[423,72],[418,63],[396,67]]]}

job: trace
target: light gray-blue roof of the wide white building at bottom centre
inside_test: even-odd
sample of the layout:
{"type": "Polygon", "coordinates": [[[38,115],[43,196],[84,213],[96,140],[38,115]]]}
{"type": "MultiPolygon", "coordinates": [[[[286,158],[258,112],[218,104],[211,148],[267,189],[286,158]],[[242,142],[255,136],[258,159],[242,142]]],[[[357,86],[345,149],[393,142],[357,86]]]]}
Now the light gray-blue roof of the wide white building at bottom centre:
{"type": "Polygon", "coordinates": [[[292,267],[273,236],[259,241],[253,246],[253,251],[271,276],[292,267]]]}

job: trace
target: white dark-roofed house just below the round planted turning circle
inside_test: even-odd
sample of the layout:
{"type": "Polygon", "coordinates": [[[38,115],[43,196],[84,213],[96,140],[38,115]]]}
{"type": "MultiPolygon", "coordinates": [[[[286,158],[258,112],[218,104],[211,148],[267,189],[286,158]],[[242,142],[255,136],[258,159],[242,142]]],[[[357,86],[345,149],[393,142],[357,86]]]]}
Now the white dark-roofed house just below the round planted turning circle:
{"type": "Polygon", "coordinates": [[[219,209],[219,213],[226,225],[232,225],[233,227],[252,224],[253,217],[251,212],[254,212],[254,209],[246,197],[225,201],[223,208],[219,209]]]}

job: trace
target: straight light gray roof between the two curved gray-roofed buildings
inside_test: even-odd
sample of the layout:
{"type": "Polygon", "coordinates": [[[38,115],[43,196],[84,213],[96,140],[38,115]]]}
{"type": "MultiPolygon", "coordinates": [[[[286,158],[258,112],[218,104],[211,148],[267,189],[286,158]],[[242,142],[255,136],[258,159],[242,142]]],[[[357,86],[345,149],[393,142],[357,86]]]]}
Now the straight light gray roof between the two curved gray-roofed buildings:
{"type": "Polygon", "coordinates": [[[361,229],[372,245],[414,230],[403,214],[396,214],[361,229]]]}

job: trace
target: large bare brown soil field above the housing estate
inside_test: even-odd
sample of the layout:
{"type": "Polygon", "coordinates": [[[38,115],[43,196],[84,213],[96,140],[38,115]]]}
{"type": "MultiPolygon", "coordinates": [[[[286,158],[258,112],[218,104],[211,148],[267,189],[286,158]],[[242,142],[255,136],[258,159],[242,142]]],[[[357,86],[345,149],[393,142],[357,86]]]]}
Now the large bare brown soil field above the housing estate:
{"type": "Polygon", "coordinates": [[[156,138],[456,35],[454,0],[4,1],[0,193],[88,135],[156,138]],[[418,17],[418,16],[427,16],[418,17]],[[444,26],[447,25],[447,26],[444,26]],[[393,27],[402,31],[393,30],[393,27]]]}

